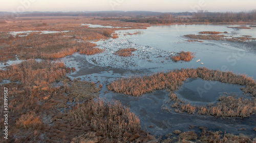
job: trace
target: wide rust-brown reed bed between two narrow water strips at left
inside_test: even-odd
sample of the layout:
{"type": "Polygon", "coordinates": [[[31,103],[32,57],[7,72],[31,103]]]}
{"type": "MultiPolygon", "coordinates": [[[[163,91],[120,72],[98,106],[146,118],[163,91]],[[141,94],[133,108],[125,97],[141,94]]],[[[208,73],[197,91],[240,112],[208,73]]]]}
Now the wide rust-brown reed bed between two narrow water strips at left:
{"type": "Polygon", "coordinates": [[[80,52],[84,54],[96,54],[103,52],[102,49],[94,48],[96,44],[90,42],[78,42],[63,34],[30,34],[27,37],[19,37],[12,40],[12,44],[7,44],[5,49],[1,49],[2,61],[14,59],[17,55],[19,59],[57,59],[64,56],[80,52]],[[38,40],[40,39],[40,40],[38,40]]]}

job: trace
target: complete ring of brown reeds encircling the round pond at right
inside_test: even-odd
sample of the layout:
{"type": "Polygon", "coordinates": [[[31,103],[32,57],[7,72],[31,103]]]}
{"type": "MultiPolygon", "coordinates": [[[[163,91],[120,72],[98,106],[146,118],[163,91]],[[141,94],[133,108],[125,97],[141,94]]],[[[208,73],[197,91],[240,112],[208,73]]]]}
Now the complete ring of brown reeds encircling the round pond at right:
{"type": "Polygon", "coordinates": [[[179,89],[187,78],[202,78],[204,80],[215,80],[224,83],[244,85],[241,90],[256,97],[256,83],[246,75],[236,75],[232,72],[209,70],[207,68],[181,69],[169,72],[160,72],[140,77],[120,78],[108,85],[108,90],[132,96],[141,96],[155,90],[167,89],[170,94],[170,105],[177,108],[176,112],[188,112],[216,117],[248,117],[256,112],[256,100],[235,97],[220,97],[217,105],[196,106],[180,100],[174,91],[179,89]]]}

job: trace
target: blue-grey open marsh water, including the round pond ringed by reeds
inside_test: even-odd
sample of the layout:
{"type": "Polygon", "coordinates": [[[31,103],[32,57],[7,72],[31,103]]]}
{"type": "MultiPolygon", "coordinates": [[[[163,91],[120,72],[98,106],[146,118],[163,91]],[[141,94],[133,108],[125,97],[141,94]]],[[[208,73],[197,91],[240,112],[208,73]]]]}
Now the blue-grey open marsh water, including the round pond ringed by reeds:
{"type": "MultiPolygon", "coordinates": [[[[116,99],[121,101],[123,105],[129,106],[136,115],[139,115],[142,127],[152,134],[166,135],[176,129],[183,132],[193,130],[200,133],[198,128],[189,129],[189,125],[193,125],[197,127],[205,126],[209,130],[221,130],[222,132],[226,131],[237,135],[243,133],[254,138],[255,131],[253,131],[252,127],[255,125],[255,97],[244,95],[241,90],[243,86],[238,85],[238,83],[209,82],[202,78],[191,78],[183,81],[183,85],[179,87],[176,94],[180,99],[191,105],[217,104],[220,96],[233,95],[247,98],[254,102],[252,103],[254,105],[254,111],[252,112],[254,113],[248,118],[215,118],[176,112],[176,108],[172,108],[166,103],[169,100],[169,93],[164,88],[143,92],[140,97],[124,95],[125,92],[121,92],[124,94],[113,93],[106,88],[113,80],[120,78],[142,77],[156,72],[168,72],[169,70],[180,68],[206,67],[208,69],[232,71],[236,74],[247,74],[252,78],[256,76],[254,72],[256,70],[255,53],[248,51],[248,49],[255,50],[254,46],[248,47],[245,42],[232,43],[230,41],[204,40],[200,43],[186,42],[184,35],[188,33],[197,34],[202,29],[204,31],[211,29],[223,32],[228,31],[230,33],[229,36],[232,37],[244,35],[243,31],[233,30],[223,25],[151,26],[146,30],[142,30],[143,33],[139,35],[123,36],[124,33],[131,33],[134,30],[117,31],[119,38],[99,42],[98,46],[106,49],[104,53],[84,58],[82,55],[76,54],[63,60],[66,64],[71,63],[72,60],[79,68],[79,71],[71,74],[70,77],[103,82],[103,88],[99,96],[105,100],[116,99]],[[113,54],[120,47],[131,47],[136,50],[132,52],[134,55],[127,57],[113,54]],[[180,51],[192,51],[195,53],[196,58],[190,62],[172,61],[172,55],[176,55],[180,51]],[[200,59],[200,62],[197,62],[198,59],[200,59]],[[198,89],[202,91],[198,91],[198,89]],[[108,92],[106,93],[105,91],[108,92]],[[202,92],[202,95],[200,95],[200,92],[202,92]]],[[[253,35],[255,30],[252,29],[250,34],[253,35]]],[[[248,34],[249,32],[246,33],[248,34]]],[[[142,82],[141,84],[128,85],[130,82],[138,83],[138,81],[129,80],[117,83],[117,87],[121,88],[127,85],[127,88],[130,86],[132,91],[133,86],[142,87],[143,84],[142,82]]],[[[148,81],[144,81],[144,84],[147,83],[148,81]]],[[[156,82],[156,84],[159,85],[159,82],[156,82]]],[[[146,89],[141,88],[139,91],[143,90],[146,89]]]]}

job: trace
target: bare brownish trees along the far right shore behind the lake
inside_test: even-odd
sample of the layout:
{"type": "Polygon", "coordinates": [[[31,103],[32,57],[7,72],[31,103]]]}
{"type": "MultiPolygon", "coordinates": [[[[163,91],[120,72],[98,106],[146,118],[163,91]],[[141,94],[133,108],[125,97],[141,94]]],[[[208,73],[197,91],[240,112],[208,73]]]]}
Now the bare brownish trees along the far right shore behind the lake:
{"type": "Polygon", "coordinates": [[[150,23],[150,24],[169,24],[169,23],[190,23],[190,22],[254,22],[256,20],[256,10],[250,12],[203,12],[198,11],[197,13],[163,13],[157,17],[134,17],[121,19],[125,22],[139,22],[139,23],[150,23]],[[186,14],[186,15],[184,15],[186,14]]]}

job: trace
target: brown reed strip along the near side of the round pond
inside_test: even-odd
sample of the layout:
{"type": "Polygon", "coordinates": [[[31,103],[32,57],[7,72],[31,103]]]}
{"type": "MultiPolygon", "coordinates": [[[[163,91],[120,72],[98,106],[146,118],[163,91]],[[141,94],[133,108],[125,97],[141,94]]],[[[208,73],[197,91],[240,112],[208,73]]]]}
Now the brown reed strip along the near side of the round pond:
{"type": "Polygon", "coordinates": [[[215,117],[249,117],[256,112],[256,99],[244,99],[233,96],[221,96],[216,105],[209,104],[205,106],[190,105],[179,99],[176,94],[169,94],[170,107],[177,108],[175,112],[198,113],[199,115],[211,115],[215,117]]]}

